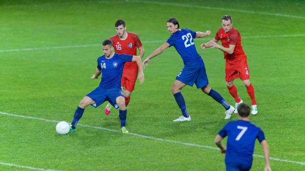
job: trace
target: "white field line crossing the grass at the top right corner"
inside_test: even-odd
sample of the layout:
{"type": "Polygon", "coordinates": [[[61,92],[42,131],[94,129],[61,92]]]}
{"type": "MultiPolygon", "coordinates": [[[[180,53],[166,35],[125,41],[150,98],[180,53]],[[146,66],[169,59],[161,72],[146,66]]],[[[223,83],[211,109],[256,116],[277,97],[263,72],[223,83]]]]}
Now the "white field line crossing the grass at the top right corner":
{"type": "Polygon", "coordinates": [[[283,16],[283,17],[289,17],[289,18],[305,19],[305,16],[298,16],[298,15],[289,15],[289,14],[271,13],[271,12],[260,12],[260,11],[251,11],[251,10],[243,10],[243,9],[230,9],[230,8],[221,8],[221,7],[212,7],[212,6],[199,6],[199,5],[190,5],[190,4],[183,4],[183,3],[168,3],[168,2],[156,2],[156,1],[145,1],[145,0],[132,0],[131,2],[142,2],[142,3],[151,3],[151,4],[158,4],[158,5],[182,6],[182,7],[199,8],[199,9],[212,9],[212,10],[221,10],[221,11],[233,11],[233,12],[243,12],[243,13],[252,13],[252,14],[262,14],[262,15],[283,16]]]}

